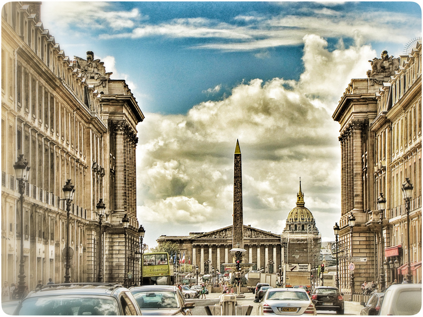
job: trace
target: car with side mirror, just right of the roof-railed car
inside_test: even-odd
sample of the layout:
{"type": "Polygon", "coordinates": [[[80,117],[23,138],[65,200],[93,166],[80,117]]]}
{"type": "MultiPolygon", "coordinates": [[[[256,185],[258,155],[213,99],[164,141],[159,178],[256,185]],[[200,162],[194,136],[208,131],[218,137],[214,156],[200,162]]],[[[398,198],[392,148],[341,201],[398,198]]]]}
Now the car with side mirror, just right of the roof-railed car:
{"type": "Polygon", "coordinates": [[[191,315],[194,302],[186,302],[176,286],[149,285],[130,287],[143,315],[191,315]]]}

